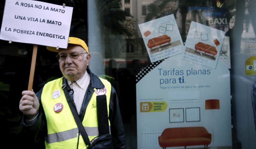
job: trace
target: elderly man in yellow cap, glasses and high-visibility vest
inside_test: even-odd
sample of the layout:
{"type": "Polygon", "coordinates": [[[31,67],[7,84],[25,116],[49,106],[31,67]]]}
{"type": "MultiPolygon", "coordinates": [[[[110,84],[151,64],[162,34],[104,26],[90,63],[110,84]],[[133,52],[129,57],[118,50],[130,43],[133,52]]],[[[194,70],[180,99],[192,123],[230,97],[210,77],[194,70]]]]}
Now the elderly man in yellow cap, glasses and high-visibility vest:
{"type": "Polygon", "coordinates": [[[46,138],[46,148],[87,148],[70,110],[71,102],[68,103],[67,100],[69,95],[64,92],[63,87],[66,86],[71,89],[69,94],[73,99],[74,110],[78,113],[89,141],[97,138],[102,129],[101,123],[98,123],[99,105],[97,106],[96,98],[106,95],[106,121],[109,122],[113,146],[126,148],[115,89],[107,80],[97,77],[87,68],[91,55],[86,43],[79,38],[69,37],[67,49],[47,49],[59,52],[57,58],[64,77],[48,82],[37,94],[33,91],[22,92],[19,108],[24,114],[24,130],[33,133],[35,140],[46,138]]]}

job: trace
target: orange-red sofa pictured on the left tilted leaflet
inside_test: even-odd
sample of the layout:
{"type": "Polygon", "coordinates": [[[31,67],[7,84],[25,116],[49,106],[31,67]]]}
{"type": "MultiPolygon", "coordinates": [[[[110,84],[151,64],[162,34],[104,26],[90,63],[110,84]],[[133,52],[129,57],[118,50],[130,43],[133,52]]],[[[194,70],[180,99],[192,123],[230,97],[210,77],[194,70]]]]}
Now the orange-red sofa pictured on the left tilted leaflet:
{"type": "Polygon", "coordinates": [[[162,36],[158,36],[158,37],[149,39],[147,45],[151,50],[153,47],[156,47],[156,46],[161,47],[162,44],[165,44],[165,43],[168,43],[168,42],[171,43],[171,37],[169,37],[167,35],[162,35],[162,36]]]}

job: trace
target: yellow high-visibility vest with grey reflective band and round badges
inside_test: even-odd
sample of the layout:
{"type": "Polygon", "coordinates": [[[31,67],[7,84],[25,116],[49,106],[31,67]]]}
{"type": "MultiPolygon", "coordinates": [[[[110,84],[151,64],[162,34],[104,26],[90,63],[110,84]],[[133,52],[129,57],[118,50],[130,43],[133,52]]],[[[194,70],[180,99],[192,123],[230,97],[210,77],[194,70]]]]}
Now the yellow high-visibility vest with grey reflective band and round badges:
{"type": "MultiPolygon", "coordinates": [[[[45,84],[41,95],[42,106],[47,121],[48,133],[47,139],[45,141],[46,149],[76,149],[77,147],[78,128],[72,112],[68,106],[64,91],[62,90],[62,79],[63,77],[45,84]],[[62,105],[58,103],[61,103],[62,105]],[[61,109],[63,110],[59,112],[61,109]]],[[[94,88],[95,91],[93,92],[91,99],[86,107],[86,112],[82,121],[90,141],[97,137],[99,134],[96,107],[97,95],[106,94],[107,110],[109,116],[111,84],[105,79],[100,78],[100,80],[104,84],[106,91],[104,89],[99,90],[94,88]]],[[[110,126],[109,120],[108,123],[110,126]]],[[[81,135],[79,136],[78,148],[87,148],[81,135]]]]}

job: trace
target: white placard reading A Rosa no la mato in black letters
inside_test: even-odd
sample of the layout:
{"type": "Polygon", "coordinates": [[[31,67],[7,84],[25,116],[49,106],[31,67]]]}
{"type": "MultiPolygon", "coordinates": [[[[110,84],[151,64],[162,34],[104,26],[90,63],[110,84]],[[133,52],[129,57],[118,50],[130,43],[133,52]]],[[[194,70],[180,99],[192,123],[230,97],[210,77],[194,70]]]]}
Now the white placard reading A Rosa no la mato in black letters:
{"type": "Polygon", "coordinates": [[[0,39],[67,48],[72,7],[6,0],[0,39]]]}

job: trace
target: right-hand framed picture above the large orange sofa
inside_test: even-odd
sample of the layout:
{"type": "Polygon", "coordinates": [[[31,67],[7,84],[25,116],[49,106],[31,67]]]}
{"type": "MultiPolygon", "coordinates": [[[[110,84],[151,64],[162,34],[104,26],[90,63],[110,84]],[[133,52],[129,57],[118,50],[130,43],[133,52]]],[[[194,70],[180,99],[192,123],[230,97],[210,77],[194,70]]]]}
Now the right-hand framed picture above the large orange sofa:
{"type": "Polygon", "coordinates": [[[186,108],[186,122],[200,122],[200,108],[186,108]]]}

